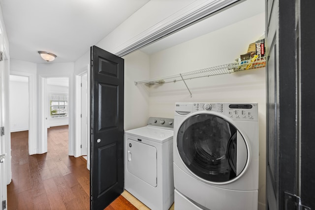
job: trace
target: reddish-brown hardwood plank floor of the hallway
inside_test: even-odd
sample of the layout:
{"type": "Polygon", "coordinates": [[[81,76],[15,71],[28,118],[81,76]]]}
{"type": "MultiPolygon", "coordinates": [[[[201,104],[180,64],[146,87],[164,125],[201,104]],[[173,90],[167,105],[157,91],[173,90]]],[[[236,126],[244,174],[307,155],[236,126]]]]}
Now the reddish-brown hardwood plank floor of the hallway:
{"type": "MultiPolygon", "coordinates": [[[[68,156],[68,126],[48,129],[48,152],[29,155],[28,131],[11,133],[8,210],[89,210],[90,172],[68,156]]],[[[123,196],[105,210],[136,210],[123,196]]]]}

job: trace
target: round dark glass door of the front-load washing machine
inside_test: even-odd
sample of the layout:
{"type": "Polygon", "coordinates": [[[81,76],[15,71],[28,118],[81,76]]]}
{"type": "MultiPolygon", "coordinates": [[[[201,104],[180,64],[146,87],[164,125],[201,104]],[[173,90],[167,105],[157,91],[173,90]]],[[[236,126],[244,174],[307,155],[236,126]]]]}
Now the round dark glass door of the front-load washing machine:
{"type": "Polygon", "coordinates": [[[177,149],[193,174],[212,182],[236,179],[248,160],[245,140],[237,128],[212,114],[185,120],[177,134],[177,149]]]}

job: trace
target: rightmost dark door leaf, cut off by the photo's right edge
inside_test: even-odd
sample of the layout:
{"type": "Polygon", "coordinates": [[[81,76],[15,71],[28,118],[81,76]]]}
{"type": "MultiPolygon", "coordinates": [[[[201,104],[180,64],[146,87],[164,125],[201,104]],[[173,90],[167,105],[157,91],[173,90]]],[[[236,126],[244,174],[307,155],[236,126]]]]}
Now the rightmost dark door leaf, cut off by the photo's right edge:
{"type": "Polygon", "coordinates": [[[296,0],[297,72],[299,80],[300,192],[301,203],[315,210],[315,1],[296,0]]]}

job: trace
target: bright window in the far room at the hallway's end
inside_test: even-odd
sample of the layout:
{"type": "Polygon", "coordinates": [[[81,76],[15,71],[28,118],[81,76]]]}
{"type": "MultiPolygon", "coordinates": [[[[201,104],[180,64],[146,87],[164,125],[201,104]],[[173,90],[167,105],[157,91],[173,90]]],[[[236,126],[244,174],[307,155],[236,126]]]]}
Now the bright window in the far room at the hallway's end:
{"type": "Polygon", "coordinates": [[[50,117],[62,118],[68,116],[68,95],[50,95],[50,117]]]}

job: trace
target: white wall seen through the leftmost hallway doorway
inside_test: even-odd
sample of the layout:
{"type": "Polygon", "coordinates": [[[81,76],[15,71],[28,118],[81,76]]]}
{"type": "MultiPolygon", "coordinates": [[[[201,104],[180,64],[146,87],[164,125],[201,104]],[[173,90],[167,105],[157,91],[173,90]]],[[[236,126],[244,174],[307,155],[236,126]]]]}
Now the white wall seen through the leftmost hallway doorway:
{"type": "Polygon", "coordinates": [[[10,81],[11,132],[29,130],[29,83],[10,81]]]}

